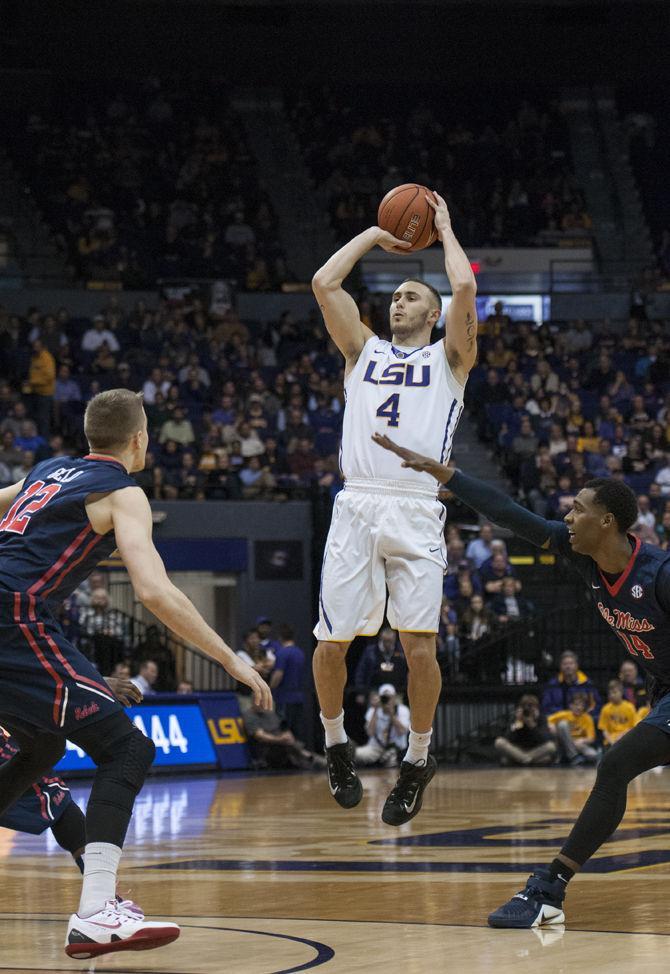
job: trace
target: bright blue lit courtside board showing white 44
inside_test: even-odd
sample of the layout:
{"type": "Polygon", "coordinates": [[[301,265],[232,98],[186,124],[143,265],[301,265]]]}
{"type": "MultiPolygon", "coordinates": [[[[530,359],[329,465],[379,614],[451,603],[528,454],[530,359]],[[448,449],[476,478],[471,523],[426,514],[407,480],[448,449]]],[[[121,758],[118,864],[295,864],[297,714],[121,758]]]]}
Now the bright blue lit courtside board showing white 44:
{"type": "MultiPolygon", "coordinates": [[[[216,766],[214,745],[195,699],[192,703],[145,703],[140,707],[128,707],[126,713],[156,745],[154,767],[216,766]]],[[[65,755],[56,769],[94,771],[95,765],[87,754],[68,741],[65,755]]]]}

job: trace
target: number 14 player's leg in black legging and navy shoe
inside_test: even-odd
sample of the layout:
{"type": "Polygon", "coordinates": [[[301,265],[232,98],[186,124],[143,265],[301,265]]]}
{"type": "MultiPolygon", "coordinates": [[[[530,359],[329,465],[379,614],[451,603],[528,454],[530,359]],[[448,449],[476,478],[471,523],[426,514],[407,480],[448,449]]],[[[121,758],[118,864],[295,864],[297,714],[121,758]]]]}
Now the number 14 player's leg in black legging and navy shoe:
{"type": "Polygon", "coordinates": [[[549,866],[530,876],[524,890],[489,916],[489,925],[563,923],[567,884],[617,829],[626,811],[628,785],[643,772],[668,762],[670,736],[647,719],[622,737],[603,757],[591,794],[560,853],[549,866]]]}

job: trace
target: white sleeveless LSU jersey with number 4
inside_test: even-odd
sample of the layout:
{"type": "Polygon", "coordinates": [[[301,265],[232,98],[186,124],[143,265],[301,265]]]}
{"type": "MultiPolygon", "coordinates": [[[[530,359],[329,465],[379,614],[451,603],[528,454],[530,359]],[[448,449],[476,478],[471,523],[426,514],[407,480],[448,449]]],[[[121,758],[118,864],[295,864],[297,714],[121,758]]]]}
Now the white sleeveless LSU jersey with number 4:
{"type": "Polygon", "coordinates": [[[444,341],[412,350],[370,338],[344,383],[340,467],[346,480],[396,480],[436,489],[427,473],[401,466],[372,442],[386,433],[400,446],[446,463],[463,410],[463,386],[449,368],[444,341]]]}

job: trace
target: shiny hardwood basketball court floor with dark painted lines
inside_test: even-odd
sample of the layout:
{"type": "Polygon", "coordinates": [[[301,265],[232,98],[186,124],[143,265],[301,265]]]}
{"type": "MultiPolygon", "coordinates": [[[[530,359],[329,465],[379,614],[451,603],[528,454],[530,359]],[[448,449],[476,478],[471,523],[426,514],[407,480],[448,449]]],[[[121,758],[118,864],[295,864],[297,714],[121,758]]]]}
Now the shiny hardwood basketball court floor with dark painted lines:
{"type": "Polygon", "coordinates": [[[619,832],[571,885],[567,930],[539,934],[490,930],[486,915],[552,857],[594,772],[445,769],[399,830],[379,819],[394,776],[364,773],[349,812],[321,775],[150,781],[120,886],[182,935],[95,963],[63,952],[69,857],[50,833],[0,830],[0,972],[665,974],[670,770],[633,784],[619,832]]]}

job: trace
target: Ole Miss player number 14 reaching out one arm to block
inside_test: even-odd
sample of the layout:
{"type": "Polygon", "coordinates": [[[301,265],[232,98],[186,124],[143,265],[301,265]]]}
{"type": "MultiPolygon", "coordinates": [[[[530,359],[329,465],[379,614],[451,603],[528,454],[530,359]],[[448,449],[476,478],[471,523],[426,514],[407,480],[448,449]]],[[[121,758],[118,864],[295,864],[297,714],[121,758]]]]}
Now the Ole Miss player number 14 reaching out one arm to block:
{"type": "Polygon", "coordinates": [[[563,923],[567,884],[618,828],[628,785],[670,763],[670,552],[629,534],[637,498],[622,481],[596,478],[575,497],[563,522],[545,521],[481,480],[418,456],[386,436],[375,442],[408,470],[429,473],[463,503],[538,548],[562,555],[582,576],[599,614],[651,677],[652,709],[612,745],[563,848],[537,869],[525,889],[489,916],[492,927],[563,923]]]}

